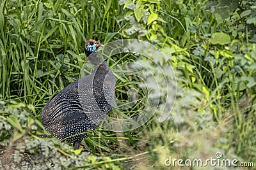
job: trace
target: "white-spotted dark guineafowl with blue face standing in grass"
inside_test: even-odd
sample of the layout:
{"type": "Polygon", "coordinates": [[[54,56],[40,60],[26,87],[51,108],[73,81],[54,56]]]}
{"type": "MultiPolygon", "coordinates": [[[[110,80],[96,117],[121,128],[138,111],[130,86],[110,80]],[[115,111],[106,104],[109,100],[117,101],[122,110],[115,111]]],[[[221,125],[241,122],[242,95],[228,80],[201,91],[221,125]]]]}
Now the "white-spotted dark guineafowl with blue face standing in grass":
{"type": "Polygon", "coordinates": [[[45,130],[61,141],[73,143],[74,150],[108,115],[115,99],[115,76],[107,62],[96,53],[100,41],[88,39],[84,52],[94,65],[93,72],[70,83],[45,104],[41,122],[45,130]]]}

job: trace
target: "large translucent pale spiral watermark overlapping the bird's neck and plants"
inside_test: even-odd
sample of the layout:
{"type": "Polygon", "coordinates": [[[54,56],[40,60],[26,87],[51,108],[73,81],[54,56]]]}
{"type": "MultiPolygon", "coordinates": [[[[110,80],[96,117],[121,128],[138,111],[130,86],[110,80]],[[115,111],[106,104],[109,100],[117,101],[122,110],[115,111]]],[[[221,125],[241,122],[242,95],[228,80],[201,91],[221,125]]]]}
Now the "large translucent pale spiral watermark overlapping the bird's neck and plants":
{"type": "MultiPolygon", "coordinates": [[[[130,79],[132,77],[131,81],[134,81],[139,88],[131,88],[129,85],[126,86],[130,88],[125,89],[127,90],[127,96],[129,98],[126,102],[120,101],[117,98],[113,101],[115,97],[113,94],[111,94],[111,97],[106,95],[106,101],[113,106],[114,111],[124,113],[127,109],[139,103],[141,100],[139,94],[143,93],[145,96],[143,99],[145,101],[143,103],[144,106],[142,106],[143,110],[134,117],[127,117],[125,113],[123,115],[124,118],[109,117],[104,113],[104,110],[102,111],[100,109],[96,101],[97,99],[95,99],[95,95],[93,94],[93,80],[95,80],[95,78],[91,77],[87,79],[87,81],[90,81],[86,83],[88,87],[84,87],[83,81],[79,81],[78,83],[79,100],[81,101],[86,115],[93,122],[97,119],[97,121],[100,122],[100,124],[97,125],[100,127],[115,132],[136,129],[150,120],[155,113],[159,115],[159,122],[163,122],[170,115],[177,94],[175,73],[169,63],[170,57],[166,57],[156,46],[138,39],[122,39],[104,44],[103,48],[97,50],[97,57],[107,60],[109,57],[120,53],[122,54],[121,59],[115,61],[116,64],[111,67],[111,73],[109,73],[109,75],[113,73],[116,82],[124,77],[130,79]],[[136,56],[136,60],[130,62],[118,61],[122,60],[122,57],[129,53],[136,56]],[[134,78],[140,81],[135,81],[134,78]],[[93,102],[86,102],[88,99],[93,102]],[[104,115],[104,117],[102,117],[102,115],[104,115]]],[[[134,57],[132,58],[134,59],[134,57]]],[[[97,72],[97,66],[95,68],[94,73],[97,72]]],[[[92,69],[90,62],[84,63],[80,78],[87,75],[93,76],[93,74],[88,73],[88,69],[92,69]]],[[[107,75],[104,81],[106,81],[106,83],[103,83],[102,89],[104,94],[108,94],[108,86],[110,84],[113,85],[113,80],[110,80],[107,75]]]]}

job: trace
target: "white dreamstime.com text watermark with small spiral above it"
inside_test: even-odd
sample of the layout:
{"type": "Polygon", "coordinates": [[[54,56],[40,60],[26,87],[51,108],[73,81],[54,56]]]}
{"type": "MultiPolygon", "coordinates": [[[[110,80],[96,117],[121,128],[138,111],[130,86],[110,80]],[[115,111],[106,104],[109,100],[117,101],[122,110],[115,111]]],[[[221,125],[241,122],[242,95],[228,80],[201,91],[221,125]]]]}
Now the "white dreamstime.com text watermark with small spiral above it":
{"type": "Polygon", "coordinates": [[[253,167],[253,162],[239,162],[237,159],[223,159],[221,152],[216,152],[215,157],[209,159],[173,159],[171,156],[169,159],[164,160],[164,165],[168,167],[175,166],[188,166],[188,167],[253,167]]]}

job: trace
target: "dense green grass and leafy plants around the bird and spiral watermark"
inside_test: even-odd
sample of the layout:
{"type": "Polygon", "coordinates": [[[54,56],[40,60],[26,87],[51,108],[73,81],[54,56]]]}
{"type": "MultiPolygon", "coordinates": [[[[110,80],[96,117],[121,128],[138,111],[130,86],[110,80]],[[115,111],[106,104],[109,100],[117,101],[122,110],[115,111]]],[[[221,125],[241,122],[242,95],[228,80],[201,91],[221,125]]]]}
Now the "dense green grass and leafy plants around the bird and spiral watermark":
{"type": "MultiPolygon", "coordinates": [[[[256,166],[255,1],[0,2],[1,167],[164,169],[170,156],[205,160],[216,152],[256,166]],[[40,113],[79,78],[89,38],[104,44],[134,38],[157,46],[175,71],[177,98],[164,122],[156,114],[133,131],[98,128],[84,139],[83,151],[74,151],[58,139],[39,138],[40,113]]],[[[115,67],[136,57],[107,62],[115,67]]],[[[119,79],[116,98],[126,101],[127,89],[138,88],[139,81],[119,79]]],[[[136,109],[124,113],[136,115],[143,97],[140,91],[136,109]]]]}

